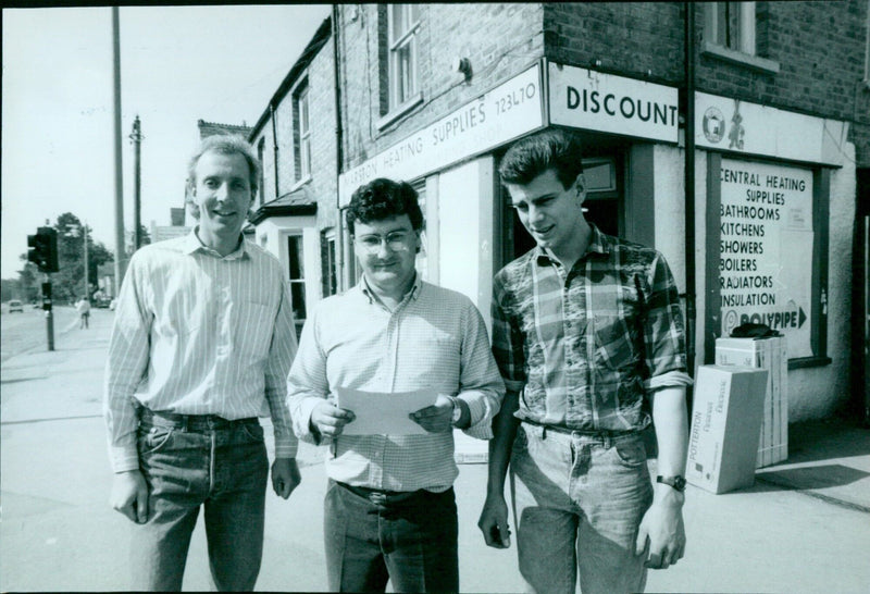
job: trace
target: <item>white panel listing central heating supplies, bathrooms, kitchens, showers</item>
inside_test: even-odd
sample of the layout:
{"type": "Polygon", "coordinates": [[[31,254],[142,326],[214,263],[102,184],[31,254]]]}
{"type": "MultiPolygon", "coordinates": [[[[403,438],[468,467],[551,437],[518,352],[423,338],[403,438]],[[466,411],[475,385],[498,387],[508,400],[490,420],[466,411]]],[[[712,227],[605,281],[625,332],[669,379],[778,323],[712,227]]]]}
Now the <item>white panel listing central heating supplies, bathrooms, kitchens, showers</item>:
{"type": "Polygon", "coordinates": [[[812,172],[722,159],[720,182],[722,336],[766,324],[790,358],[811,357],[812,172]]]}

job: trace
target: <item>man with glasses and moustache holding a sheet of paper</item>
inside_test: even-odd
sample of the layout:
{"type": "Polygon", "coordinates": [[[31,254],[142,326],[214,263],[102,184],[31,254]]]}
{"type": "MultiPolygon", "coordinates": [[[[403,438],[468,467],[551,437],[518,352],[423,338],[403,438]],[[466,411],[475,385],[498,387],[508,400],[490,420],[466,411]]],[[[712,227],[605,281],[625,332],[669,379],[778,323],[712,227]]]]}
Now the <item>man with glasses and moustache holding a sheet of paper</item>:
{"type": "Polygon", "coordinates": [[[300,440],[330,444],[324,540],[333,592],[458,592],[453,428],[489,438],[504,384],[483,319],[459,293],[414,270],[423,213],[407,183],[378,178],[353,193],[347,224],[359,284],[318,304],[288,378],[300,440]],[[357,435],[340,388],[432,389],[411,413],[425,432],[357,435]]]}

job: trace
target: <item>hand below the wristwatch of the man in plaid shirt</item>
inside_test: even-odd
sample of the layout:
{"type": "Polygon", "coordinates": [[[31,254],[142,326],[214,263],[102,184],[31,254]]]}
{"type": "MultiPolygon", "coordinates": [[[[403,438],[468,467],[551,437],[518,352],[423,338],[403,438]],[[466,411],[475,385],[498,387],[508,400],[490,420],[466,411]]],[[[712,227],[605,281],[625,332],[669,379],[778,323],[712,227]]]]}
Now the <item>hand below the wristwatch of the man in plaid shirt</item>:
{"type": "Polygon", "coordinates": [[[654,500],[641,520],[635,554],[647,554],[644,565],[649,569],[668,569],[683,558],[686,530],[682,497],[682,493],[673,492],[672,497],[654,500]]]}

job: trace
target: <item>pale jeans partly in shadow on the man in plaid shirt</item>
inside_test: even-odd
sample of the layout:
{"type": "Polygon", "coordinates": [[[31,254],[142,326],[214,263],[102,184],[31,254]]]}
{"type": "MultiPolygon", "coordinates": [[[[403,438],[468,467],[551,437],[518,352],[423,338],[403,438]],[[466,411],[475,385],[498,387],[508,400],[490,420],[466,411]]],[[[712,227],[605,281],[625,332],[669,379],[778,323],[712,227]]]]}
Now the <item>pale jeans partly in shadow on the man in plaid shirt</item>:
{"type": "Polygon", "coordinates": [[[643,592],[634,555],[652,502],[639,434],[557,433],[522,423],[510,461],[520,573],[532,592],[643,592]]]}

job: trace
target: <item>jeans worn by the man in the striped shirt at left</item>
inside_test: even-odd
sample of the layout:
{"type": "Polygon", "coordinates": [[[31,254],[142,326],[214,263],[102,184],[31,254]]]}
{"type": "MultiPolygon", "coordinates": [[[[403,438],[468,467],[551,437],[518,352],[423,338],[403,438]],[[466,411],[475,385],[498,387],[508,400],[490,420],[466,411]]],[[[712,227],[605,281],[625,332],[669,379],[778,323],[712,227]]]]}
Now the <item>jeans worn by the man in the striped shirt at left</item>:
{"type": "Polygon", "coordinates": [[[179,591],[204,506],[209,561],[221,591],[250,591],[260,572],[269,459],[257,419],[150,413],[138,433],[148,521],[134,529],[134,590],[179,591]]]}

